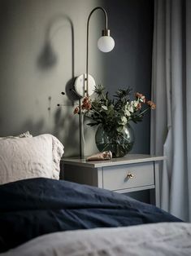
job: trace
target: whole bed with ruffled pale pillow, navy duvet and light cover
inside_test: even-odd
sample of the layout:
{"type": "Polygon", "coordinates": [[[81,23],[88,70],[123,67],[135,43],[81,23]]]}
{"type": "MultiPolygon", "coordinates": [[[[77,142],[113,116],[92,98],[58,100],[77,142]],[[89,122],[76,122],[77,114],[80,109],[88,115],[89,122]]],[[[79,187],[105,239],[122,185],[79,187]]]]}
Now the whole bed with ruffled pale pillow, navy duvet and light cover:
{"type": "Polygon", "coordinates": [[[63,146],[54,136],[0,144],[2,255],[154,255],[156,249],[159,255],[191,254],[189,223],[128,196],[59,180],[63,146]]]}

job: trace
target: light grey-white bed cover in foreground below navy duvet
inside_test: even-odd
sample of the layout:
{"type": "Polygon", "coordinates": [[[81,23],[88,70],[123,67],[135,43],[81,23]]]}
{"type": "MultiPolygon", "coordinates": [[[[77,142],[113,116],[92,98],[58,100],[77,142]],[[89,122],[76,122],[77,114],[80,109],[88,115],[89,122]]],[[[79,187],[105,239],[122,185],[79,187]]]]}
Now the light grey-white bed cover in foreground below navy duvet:
{"type": "Polygon", "coordinates": [[[39,236],[3,256],[191,255],[191,223],[154,223],[39,236]]]}

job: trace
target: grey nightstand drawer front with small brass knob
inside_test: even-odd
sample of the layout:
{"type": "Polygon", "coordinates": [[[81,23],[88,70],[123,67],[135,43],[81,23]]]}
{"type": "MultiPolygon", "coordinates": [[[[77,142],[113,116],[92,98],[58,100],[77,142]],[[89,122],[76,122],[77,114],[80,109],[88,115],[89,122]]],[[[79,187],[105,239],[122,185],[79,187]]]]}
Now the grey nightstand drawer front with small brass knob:
{"type": "Polygon", "coordinates": [[[119,190],[154,185],[154,163],[103,168],[103,188],[119,190]]]}

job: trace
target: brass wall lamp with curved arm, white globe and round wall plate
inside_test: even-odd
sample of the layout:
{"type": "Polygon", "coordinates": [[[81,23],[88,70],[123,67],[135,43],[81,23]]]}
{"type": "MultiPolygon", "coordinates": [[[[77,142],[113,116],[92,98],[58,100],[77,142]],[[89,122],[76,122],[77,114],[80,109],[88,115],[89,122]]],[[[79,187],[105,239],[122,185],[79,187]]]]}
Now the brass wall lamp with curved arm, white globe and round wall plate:
{"type": "Polygon", "coordinates": [[[91,15],[96,10],[102,10],[105,15],[105,28],[102,29],[102,37],[98,39],[98,49],[103,52],[112,51],[115,46],[115,41],[110,36],[110,29],[107,28],[107,14],[106,10],[102,7],[95,7],[89,14],[87,22],[87,41],[86,41],[86,73],[81,74],[79,77],[76,77],[74,84],[76,94],[81,98],[84,96],[89,96],[93,94],[95,87],[94,78],[89,75],[89,20],[91,15]]]}

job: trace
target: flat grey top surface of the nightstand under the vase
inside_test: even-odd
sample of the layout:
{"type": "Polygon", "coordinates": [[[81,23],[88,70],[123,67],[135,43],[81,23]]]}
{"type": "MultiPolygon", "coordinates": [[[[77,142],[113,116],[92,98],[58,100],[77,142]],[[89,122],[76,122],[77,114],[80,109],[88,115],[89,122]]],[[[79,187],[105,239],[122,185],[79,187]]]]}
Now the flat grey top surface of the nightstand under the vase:
{"type": "Polygon", "coordinates": [[[86,167],[106,167],[106,166],[119,166],[125,164],[135,164],[147,161],[162,161],[166,159],[163,156],[151,156],[151,155],[142,155],[142,154],[128,154],[125,157],[112,158],[111,160],[102,160],[102,161],[86,161],[80,158],[63,158],[64,164],[72,164],[72,166],[86,166],[86,167]]]}

